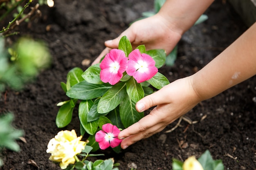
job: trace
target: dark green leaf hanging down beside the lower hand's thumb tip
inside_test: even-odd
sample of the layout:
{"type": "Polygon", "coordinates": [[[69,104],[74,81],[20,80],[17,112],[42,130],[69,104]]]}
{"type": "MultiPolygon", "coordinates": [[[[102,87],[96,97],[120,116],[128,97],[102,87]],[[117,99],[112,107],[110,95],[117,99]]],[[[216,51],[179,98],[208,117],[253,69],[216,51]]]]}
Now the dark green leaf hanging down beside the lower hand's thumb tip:
{"type": "Polygon", "coordinates": [[[137,112],[135,108],[135,102],[133,102],[130,97],[126,96],[124,100],[120,103],[120,118],[125,128],[135,124],[142,117],[144,113],[137,112]]]}

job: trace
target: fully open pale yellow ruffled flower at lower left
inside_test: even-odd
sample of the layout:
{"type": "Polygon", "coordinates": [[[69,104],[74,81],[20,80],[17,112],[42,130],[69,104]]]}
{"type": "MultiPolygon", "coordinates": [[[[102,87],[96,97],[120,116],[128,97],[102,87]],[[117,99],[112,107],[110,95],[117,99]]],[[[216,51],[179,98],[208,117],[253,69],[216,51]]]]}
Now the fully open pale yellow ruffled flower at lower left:
{"type": "Polygon", "coordinates": [[[51,153],[51,161],[60,162],[61,169],[66,169],[69,164],[75,163],[74,156],[81,153],[86,142],[77,137],[75,130],[60,131],[49,141],[47,153],[51,153]]]}

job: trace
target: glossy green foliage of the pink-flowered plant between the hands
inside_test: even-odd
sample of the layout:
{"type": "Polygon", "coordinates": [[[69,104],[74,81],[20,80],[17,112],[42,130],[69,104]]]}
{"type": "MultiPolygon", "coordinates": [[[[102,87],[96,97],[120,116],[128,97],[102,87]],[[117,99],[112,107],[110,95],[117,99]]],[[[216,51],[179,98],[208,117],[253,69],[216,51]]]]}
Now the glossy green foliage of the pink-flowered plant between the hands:
{"type": "MultiPolygon", "coordinates": [[[[126,58],[132,53],[132,45],[126,36],[121,38],[118,49],[124,51],[126,58]]],[[[146,51],[144,45],[135,50],[141,55],[151,56],[156,68],[165,63],[164,50],[146,51]]],[[[56,125],[63,128],[70,123],[74,107],[79,103],[81,134],[87,132],[90,135],[88,145],[93,147],[93,151],[99,149],[95,133],[102,130],[103,124],[110,123],[123,129],[136,123],[144,117],[144,113],[137,112],[135,104],[139,99],[154,92],[150,85],[160,89],[169,84],[168,79],[159,72],[141,83],[137,83],[133,76],[124,72],[120,81],[114,85],[103,83],[100,73],[100,64],[92,65],[85,71],[73,68],[67,74],[67,82],[61,82],[61,87],[70,99],[57,104],[61,108],[56,116],[56,125]]],[[[117,152],[119,149],[114,148],[117,152]]]]}

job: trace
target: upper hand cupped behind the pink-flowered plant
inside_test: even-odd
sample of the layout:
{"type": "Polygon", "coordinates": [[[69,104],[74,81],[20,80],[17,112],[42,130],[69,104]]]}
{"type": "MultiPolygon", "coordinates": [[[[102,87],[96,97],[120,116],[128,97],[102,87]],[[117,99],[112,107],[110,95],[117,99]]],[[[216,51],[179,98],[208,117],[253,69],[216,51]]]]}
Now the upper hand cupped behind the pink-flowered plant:
{"type": "Polygon", "coordinates": [[[173,25],[167,23],[169,22],[159,14],[133,23],[128,29],[121,33],[119,37],[105,42],[106,49],[101,52],[92,65],[99,63],[101,58],[106,55],[110,49],[117,49],[119,41],[124,35],[130,40],[133,49],[144,44],[146,50],[164,49],[166,53],[169,54],[180,40],[182,33],[175,30],[173,25]]]}

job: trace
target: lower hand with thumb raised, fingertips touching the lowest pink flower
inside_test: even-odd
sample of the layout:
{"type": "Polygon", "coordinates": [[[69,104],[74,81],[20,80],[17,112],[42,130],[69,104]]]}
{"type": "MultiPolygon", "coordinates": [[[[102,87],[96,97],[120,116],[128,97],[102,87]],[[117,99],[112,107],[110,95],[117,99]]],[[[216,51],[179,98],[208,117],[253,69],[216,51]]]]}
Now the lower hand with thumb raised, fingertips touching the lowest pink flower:
{"type": "Polygon", "coordinates": [[[139,112],[153,106],[157,107],[149,115],[119,133],[118,138],[124,139],[121,142],[121,148],[125,149],[141,139],[160,132],[200,101],[193,89],[192,76],[178,79],[159,91],[144,97],[136,104],[136,109],[139,112]]]}

